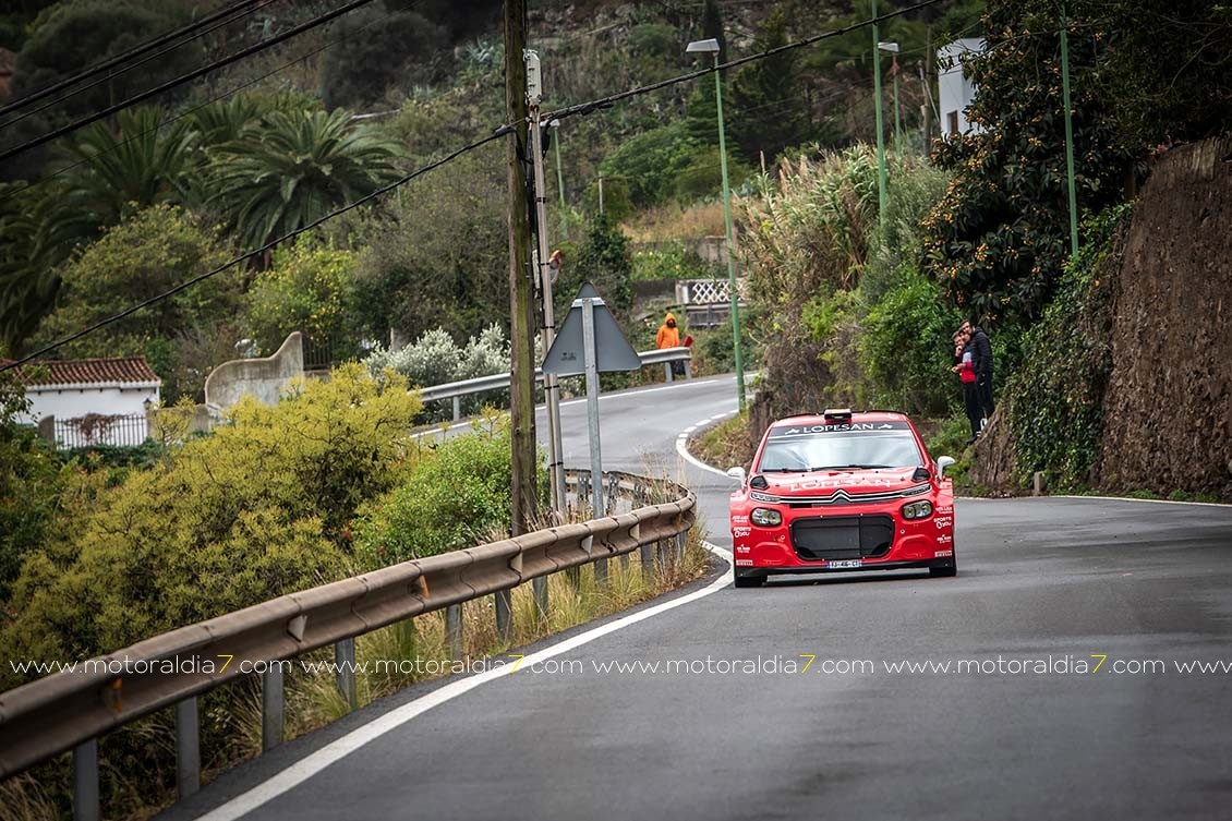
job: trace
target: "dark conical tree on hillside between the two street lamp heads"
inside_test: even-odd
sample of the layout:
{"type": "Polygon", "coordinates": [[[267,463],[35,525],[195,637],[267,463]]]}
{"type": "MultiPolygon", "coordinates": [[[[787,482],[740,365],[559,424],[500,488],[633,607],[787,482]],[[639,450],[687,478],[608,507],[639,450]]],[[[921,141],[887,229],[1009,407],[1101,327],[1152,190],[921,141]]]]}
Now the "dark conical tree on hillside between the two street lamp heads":
{"type": "MultiPolygon", "coordinates": [[[[787,18],[781,7],[763,21],[753,51],[787,44],[787,18]]],[[[744,155],[772,161],[782,149],[800,143],[808,131],[804,90],[797,71],[798,52],[788,51],[750,63],[732,83],[731,134],[744,155]]]]}

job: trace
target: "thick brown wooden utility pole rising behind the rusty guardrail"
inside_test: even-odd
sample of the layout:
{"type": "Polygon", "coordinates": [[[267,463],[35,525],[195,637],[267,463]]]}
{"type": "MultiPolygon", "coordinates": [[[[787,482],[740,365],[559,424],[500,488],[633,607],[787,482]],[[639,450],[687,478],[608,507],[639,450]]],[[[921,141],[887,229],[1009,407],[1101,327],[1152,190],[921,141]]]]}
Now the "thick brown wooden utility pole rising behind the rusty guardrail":
{"type": "MultiPolygon", "coordinates": [[[[527,533],[535,518],[535,313],[531,304],[531,223],[526,207],[526,0],[504,0],[505,143],[509,190],[509,417],[513,439],[510,531],[527,533]]],[[[496,593],[496,630],[511,635],[509,590],[496,593]]]]}

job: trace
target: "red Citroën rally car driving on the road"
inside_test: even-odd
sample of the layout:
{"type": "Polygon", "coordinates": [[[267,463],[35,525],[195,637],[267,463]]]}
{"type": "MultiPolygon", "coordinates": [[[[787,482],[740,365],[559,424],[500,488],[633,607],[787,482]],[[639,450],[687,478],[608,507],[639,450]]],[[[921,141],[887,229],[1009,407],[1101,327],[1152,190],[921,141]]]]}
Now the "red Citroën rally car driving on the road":
{"type": "Polygon", "coordinates": [[[827,410],[770,425],[732,494],[736,587],[771,573],[926,567],[956,576],[954,460],[931,460],[906,414],[827,410]]]}

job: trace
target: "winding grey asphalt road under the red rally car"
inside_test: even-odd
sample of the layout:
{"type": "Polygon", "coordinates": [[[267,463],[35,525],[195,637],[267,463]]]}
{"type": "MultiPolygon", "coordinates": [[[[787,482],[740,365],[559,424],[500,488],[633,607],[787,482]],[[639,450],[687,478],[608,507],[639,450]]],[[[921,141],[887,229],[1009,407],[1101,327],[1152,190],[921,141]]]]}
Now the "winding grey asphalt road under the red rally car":
{"type": "MultiPolygon", "coordinates": [[[[732,394],[721,378],[606,397],[605,467],[674,475],[676,435],[732,410],[732,394]]],[[[567,462],[585,466],[584,404],[563,419],[567,462]]],[[[729,482],[692,466],[687,480],[729,547],[729,482]]],[[[496,678],[360,743],[447,692],[411,688],[169,817],[239,817],[248,805],[227,801],[257,796],[241,817],[1228,819],[1232,668],[1175,664],[1232,663],[1230,541],[1232,508],[960,500],[957,578],[719,581],[557,657],[579,668],[496,678]],[[784,672],[803,655],[808,671],[784,672]],[[721,663],[758,657],[758,672],[721,663]],[[1050,657],[1052,672],[1026,663],[1050,657]],[[670,660],[697,672],[667,672],[670,660]],[[595,667],[637,661],[660,668],[595,667]],[[887,668],[902,661],[951,669],[887,668]],[[1163,672],[1114,669],[1154,661],[1163,672]],[[298,785],[267,780],[340,747],[298,785]]]]}

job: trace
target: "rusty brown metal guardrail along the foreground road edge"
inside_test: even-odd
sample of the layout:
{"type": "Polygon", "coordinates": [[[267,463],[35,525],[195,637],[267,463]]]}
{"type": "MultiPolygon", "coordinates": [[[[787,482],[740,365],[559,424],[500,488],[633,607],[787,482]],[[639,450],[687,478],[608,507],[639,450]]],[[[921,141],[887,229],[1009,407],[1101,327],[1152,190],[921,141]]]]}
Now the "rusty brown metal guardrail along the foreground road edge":
{"type": "MultiPolygon", "coordinates": [[[[393,565],[227,615],[180,627],[106,656],[0,693],[0,778],[21,773],[73,751],[75,816],[99,817],[97,738],[156,710],[174,706],[181,798],[200,784],[197,696],[229,680],[255,674],[267,662],[290,660],[335,645],[335,658],[355,658],[356,636],[447,609],[446,632],[461,653],[461,605],[511,590],[531,579],[596,563],[641,549],[644,567],[653,551],[683,552],[696,519],[697,499],[667,480],[605,473],[607,493],[627,512],[602,519],[537,530],[468,550],[393,565]],[[675,500],[649,504],[664,493],[675,500]],[[203,669],[203,660],[222,669],[203,669]],[[186,660],[198,663],[190,666],[186,660]],[[244,664],[243,662],[248,662],[244,664]],[[170,671],[165,667],[170,666],[170,671]]],[[[569,471],[575,498],[588,498],[589,471],[569,471]]],[[[615,504],[611,508],[618,509],[615,504]]],[[[604,573],[606,576],[606,572],[604,573]]],[[[545,590],[546,592],[546,590],[545,590]]],[[[540,602],[546,607],[546,600],[540,602]]],[[[282,740],[282,669],[260,672],[266,750],[282,740]]],[[[354,671],[339,689],[355,704],[354,671]]]]}

